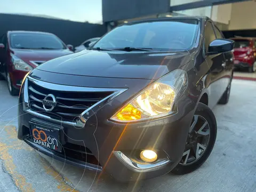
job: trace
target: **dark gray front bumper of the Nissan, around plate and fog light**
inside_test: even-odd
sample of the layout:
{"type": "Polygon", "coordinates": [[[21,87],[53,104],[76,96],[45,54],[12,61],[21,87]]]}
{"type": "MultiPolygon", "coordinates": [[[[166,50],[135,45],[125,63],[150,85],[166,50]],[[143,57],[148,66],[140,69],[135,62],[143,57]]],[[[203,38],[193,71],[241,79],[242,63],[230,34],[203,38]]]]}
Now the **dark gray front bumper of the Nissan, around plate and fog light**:
{"type": "Polygon", "coordinates": [[[166,117],[148,123],[128,126],[107,122],[104,126],[99,126],[94,134],[90,131],[90,127],[75,129],[73,126],[64,125],[63,131],[67,134],[67,137],[65,141],[62,141],[62,145],[65,142],[84,145],[92,151],[92,154],[99,161],[99,165],[79,161],[76,157],[67,157],[57,151],[46,149],[29,141],[27,138],[29,137],[29,122],[31,119],[43,120],[45,123],[55,122],[45,121],[43,118],[26,113],[22,110],[21,104],[19,105],[18,138],[25,140],[31,147],[59,161],[94,171],[102,171],[103,169],[119,181],[134,181],[166,174],[179,163],[185,147],[191,116],[193,114],[187,114],[183,118],[177,119],[177,121],[173,121],[171,117],[166,117]],[[75,138],[74,135],[77,135],[77,140],[71,139],[75,138]],[[113,150],[133,151],[153,147],[164,150],[170,161],[153,169],[134,169],[113,154],[113,150]]]}

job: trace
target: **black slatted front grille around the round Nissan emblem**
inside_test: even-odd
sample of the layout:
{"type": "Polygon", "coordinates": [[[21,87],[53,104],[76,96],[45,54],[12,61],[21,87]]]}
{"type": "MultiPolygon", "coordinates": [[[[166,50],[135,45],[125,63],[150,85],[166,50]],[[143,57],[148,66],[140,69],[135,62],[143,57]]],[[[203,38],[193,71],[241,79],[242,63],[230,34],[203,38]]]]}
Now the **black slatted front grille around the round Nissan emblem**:
{"type": "Polygon", "coordinates": [[[75,122],[75,119],[86,109],[106,98],[113,92],[69,92],[45,89],[28,81],[28,97],[30,109],[54,119],[75,122]],[[45,111],[43,99],[53,94],[57,105],[52,111],[45,111]]]}

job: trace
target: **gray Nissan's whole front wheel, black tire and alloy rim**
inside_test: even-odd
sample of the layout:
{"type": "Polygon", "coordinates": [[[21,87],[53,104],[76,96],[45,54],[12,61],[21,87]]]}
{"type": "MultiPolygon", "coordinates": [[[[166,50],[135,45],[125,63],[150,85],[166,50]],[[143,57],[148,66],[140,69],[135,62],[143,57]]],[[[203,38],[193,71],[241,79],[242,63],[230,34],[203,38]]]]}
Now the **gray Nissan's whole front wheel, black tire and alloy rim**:
{"type": "Polygon", "coordinates": [[[190,173],[200,167],[211,154],[217,136],[217,122],[212,110],[198,103],[191,122],[185,151],[174,174],[190,173]]]}

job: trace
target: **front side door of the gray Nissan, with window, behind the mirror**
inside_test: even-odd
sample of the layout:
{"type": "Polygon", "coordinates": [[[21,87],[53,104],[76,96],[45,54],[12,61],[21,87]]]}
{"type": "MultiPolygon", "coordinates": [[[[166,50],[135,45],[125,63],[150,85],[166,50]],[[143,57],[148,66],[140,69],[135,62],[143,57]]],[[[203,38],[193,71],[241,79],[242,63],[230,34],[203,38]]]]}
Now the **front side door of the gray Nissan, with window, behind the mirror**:
{"type": "Polygon", "coordinates": [[[208,47],[210,43],[216,39],[216,35],[212,26],[212,22],[207,21],[205,23],[205,52],[206,52],[206,63],[210,68],[210,94],[212,105],[215,105],[219,99],[221,98],[223,92],[226,90],[226,80],[223,79],[225,76],[223,63],[225,63],[225,58],[222,53],[214,54],[214,55],[207,55],[208,47]]]}

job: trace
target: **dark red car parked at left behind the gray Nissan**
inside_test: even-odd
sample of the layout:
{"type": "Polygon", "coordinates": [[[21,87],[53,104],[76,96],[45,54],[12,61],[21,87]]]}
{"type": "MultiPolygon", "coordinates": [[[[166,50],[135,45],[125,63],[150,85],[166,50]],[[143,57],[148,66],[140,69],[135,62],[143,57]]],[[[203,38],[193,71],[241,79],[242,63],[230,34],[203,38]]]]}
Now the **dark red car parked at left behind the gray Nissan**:
{"type": "Polygon", "coordinates": [[[43,62],[73,53],[54,34],[8,31],[0,37],[0,78],[7,80],[11,95],[19,93],[23,77],[43,62]]]}

